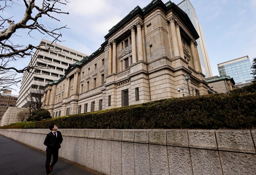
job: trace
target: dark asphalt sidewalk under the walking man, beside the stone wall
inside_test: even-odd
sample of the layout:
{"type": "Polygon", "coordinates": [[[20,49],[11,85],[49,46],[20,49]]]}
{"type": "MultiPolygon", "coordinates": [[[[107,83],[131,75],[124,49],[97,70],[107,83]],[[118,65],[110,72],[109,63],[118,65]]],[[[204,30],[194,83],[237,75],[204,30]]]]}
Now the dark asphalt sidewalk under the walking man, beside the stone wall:
{"type": "MultiPolygon", "coordinates": [[[[45,175],[45,160],[45,152],[0,135],[0,175],[45,175]]],[[[59,157],[51,175],[65,174],[100,175],[101,173],[59,157]]]]}

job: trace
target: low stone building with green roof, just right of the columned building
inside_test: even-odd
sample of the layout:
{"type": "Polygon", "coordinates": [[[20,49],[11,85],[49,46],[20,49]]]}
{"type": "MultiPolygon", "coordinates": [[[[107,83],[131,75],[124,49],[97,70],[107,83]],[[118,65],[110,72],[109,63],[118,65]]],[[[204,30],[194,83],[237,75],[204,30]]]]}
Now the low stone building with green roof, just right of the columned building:
{"type": "Polygon", "coordinates": [[[205,79],[210,88],[218,93],[228,93],[235,88],[235,81],[230,76],[213,76],[205,79]]]}

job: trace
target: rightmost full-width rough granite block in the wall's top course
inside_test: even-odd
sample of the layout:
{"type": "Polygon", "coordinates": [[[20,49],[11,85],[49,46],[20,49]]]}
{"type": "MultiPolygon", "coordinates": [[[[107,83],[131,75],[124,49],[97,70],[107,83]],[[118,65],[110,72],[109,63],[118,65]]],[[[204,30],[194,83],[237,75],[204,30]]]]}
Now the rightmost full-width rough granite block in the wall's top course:
{"type": "Polygon", "coordinates": [[[218,130],[216,137],[219,150],[255,154],[250,130],[218,130]]]}

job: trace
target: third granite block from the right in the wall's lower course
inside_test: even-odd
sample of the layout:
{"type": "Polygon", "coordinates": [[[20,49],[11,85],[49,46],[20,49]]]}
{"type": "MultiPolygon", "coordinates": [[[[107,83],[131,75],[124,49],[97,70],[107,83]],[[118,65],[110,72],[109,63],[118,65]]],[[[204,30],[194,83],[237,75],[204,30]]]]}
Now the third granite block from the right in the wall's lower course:
{"type": "Polygon", "coordinates": [[[170,175],[193,174],[189,148],[167,146],[167,152],[170,175]]]}

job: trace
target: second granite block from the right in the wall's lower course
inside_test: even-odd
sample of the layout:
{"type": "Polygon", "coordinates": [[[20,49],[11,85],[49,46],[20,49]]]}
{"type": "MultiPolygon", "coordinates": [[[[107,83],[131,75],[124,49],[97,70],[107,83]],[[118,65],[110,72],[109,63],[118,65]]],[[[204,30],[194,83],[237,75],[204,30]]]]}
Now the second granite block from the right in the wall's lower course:
{"type": "Polygon", "coordinates": [[[218,151],[190,148],[194,174],[222,174],[218,151]]]}

